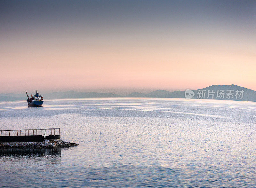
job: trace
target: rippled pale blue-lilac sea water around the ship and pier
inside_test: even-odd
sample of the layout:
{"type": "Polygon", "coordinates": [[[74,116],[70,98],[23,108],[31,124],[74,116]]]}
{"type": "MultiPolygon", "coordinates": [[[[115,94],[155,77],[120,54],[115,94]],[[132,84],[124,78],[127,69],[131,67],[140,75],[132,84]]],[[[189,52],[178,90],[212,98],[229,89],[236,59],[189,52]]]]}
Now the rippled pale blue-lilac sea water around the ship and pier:
{"type": "Polygon", "coordinates": [[[256,103],[90,98],[0,103],[0,129],[77,147],[0,149],[0,187],[256,187],[256,103]]]}

